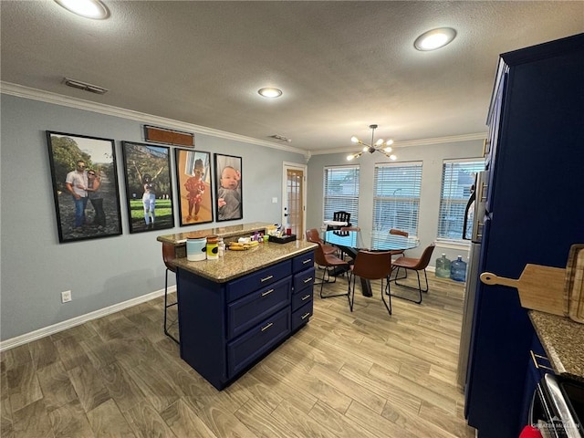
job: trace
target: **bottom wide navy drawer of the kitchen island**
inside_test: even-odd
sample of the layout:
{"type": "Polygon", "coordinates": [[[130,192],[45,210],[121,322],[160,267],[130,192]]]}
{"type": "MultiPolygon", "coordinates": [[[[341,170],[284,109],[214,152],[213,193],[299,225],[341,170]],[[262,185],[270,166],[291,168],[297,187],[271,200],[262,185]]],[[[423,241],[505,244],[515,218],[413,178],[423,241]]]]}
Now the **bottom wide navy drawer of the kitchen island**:
{"type": "Polygon", "coordinates": [[[227,374],[231,379],[247,365],[272,349],[290,333],[290,308],[284,308],[227,344],[227,374]]]}

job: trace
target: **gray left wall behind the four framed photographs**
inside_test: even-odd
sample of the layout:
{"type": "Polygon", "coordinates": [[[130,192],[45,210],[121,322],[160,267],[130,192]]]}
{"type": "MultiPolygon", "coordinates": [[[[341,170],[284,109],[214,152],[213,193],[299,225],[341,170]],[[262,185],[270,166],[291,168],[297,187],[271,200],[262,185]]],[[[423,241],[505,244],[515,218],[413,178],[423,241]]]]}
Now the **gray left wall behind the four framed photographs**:
{"type": "MultiPolygon", "coordinates": [[[[143,141],[143,123],[1,97],[1,340],[161,290],[164,265],[156,236],[216,224],[129,234],[120,142],[143,141]],[[122,235],[59,245],[46,130],[116,140],[122,235]],[[61,304],[60,292],[69,289],[73,300],[61,304]]],[[[208,135],[195,134],[195,142],[202,151],[243,157],[244,219],[220,224],[280,222],[281,204],[272,203],[272,197],[281,202],[282,162],[304,163],[303,155],[208,135]]]]}

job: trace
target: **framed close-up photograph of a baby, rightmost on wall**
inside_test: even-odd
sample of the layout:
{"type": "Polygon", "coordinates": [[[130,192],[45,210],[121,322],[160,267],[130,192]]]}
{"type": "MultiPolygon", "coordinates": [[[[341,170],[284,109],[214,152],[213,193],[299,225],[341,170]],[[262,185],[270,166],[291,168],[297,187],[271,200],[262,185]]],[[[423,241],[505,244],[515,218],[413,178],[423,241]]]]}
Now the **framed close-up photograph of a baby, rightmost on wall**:
{"type": "Polygon", "coordinates": [[[244,200],[241,157],[215,153],[214,160],[217,222],[242,219],[244,200]]]}

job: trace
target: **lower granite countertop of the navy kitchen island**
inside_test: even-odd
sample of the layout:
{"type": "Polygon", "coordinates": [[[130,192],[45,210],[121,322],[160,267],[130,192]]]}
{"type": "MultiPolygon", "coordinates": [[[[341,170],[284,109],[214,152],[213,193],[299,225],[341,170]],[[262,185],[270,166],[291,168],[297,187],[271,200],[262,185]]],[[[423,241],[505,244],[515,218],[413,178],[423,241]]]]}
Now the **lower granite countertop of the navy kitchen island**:
{"type": "Polygon", "coordinates": [[[306,253],[316,247],[316,244],[300,240],[288,244],[266,242],[246,251],[225,249],[224,256],[217,260],[189,262],[186,257],[181,257],[173,259],[171,264],[217,283],[224,283],[306,253]]]}

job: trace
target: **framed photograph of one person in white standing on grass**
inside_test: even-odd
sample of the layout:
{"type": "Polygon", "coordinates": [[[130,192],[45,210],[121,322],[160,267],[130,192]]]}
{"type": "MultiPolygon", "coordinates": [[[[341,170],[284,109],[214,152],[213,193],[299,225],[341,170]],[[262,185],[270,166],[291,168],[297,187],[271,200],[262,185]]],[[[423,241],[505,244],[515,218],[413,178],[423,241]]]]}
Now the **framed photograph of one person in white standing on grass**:
{"type": "Polygon", "coordinates": [[[130,233],[174,227],[168,146],[122,141],[130,233]]]}

